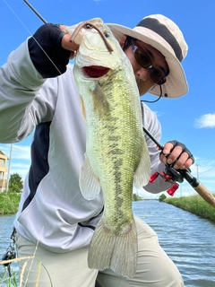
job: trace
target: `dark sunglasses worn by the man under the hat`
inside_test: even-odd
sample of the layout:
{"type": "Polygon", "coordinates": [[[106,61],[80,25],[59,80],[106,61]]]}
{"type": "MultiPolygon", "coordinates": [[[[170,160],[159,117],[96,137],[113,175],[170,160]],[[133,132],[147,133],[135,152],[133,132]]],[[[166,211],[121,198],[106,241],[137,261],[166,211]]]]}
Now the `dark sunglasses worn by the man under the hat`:
{"type": "Polygon", "coordinates": [[[141,65],[144,69],[150,69],[150,78],[153,83],[159,85],[166,83],[166,74],[164,74],[162,71],[152,65],[152,60],[147,50],[138,45],[136,40],[132,40],[132,49],[133,56],[135,57],[137,63],[141,65]]]}

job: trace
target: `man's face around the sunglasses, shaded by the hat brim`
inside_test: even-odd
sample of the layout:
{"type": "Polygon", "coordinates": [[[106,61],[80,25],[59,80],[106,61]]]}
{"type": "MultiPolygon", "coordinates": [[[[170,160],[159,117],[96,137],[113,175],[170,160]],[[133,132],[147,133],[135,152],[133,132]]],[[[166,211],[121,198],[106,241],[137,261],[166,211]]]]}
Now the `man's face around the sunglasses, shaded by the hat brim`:
{"type": "MultiPolygon", "coordinates": [[[[161,74],[168,73],[168,64],[165,60],[165,57],[163,57],[163,55],[156,48],[153,48],[141,41],[138,41],[138,45],[150,55],[153,67],[157,68],[161,74]]],[[[151,70],[149,68],[143,68],[142,65],[136,61],[132,46],[126,48],[125,54],[133,66],[133,73],[140,92],[140,96],[142,96],[147,91],[150,91],[150,89],[155,85],[150,77],[151,70]]]]}

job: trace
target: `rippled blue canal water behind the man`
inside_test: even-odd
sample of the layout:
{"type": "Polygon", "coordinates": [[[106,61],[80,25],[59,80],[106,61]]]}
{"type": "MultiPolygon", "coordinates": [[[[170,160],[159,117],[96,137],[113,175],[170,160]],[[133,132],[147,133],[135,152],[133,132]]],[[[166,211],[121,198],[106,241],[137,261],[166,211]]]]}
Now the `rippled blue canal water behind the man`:
{"type": "MultiPolygon", "coordinates": [[[[185,287],[215,287],[215,224],[155,200],[133,202],[133,213],[157,232],[159,244],[176,264],[185,287]]],[[[10,243],[13,219],[14,215],[0,216],[1,257],[10,243]]],[[[16,264],[12,267],[18,271],[16,264]]],[[[0,287],[3,275],[0,265],[0,287]]]]}

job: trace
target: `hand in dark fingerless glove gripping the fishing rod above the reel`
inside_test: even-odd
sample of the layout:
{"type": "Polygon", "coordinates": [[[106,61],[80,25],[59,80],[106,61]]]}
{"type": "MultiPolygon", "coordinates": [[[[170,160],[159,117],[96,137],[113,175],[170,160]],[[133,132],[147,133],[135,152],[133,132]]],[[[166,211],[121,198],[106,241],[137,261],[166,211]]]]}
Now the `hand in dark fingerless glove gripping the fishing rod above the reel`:
{"type": "Polygon", "coordinates": [[[170,141],[164,145],[160,161],[165,164],[173,164],[173,168],[176,170],[186,170],[193,164],[194,158],[184,143],[170,141]]]}

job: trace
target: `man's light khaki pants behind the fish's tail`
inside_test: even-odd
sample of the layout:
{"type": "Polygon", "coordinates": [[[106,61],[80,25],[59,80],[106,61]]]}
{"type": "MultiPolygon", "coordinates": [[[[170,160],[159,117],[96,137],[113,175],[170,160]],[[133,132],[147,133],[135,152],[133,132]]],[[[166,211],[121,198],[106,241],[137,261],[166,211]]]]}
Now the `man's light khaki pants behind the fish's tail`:
{"type": "MultiPolygon", "coordinates": [[[[157,234],[139,218],[135,217],[135,222],[138,231],[138,265],[133,278],[121,277],[109,269],[99,273],[98,270],[89,269],[88,248],[58,254],[38,247],[35,255],[37,259],[34,258],[33,261],[29,259],[27,265],[26,260],[19,263],[22,286],[94,287],[96,279],[102,287],[184,286],[176,265],[160,248],[157,234]],[[39,262],[42,264],[39,265],[39,262]],[[26,285],[25,281],[27,281],[26,285]]],[[[34,243],[19,234],[17,234],[16,247],[18,257],[31,256],[36,249],[34,243]]]]}

